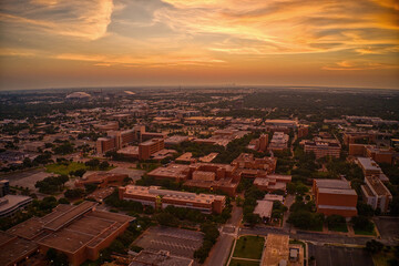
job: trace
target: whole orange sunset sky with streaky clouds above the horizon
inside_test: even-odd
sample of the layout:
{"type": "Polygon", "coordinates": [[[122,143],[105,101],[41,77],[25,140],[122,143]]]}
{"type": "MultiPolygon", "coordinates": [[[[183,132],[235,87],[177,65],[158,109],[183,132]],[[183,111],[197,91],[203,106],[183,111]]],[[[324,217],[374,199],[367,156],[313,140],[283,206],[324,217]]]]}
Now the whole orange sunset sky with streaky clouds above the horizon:
{"type": "Polygon", "coordinates": [[[399,89],[399,1],[0,1],[0,90],[227,83],[399,89]]]}

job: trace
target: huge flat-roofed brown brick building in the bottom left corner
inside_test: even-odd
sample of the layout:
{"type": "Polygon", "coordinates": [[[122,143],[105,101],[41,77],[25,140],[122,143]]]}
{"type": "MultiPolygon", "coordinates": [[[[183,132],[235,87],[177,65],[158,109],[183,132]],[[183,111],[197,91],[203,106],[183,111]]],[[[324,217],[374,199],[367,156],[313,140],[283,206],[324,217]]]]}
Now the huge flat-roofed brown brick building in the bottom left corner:
{"type": "Polygon", "coordinates": [[[43,217],[32,217],[7,231],[8,234],[35,243],[45,254],[54,248],[68,256],[71,265],[99,258],[100,250],[121,235],[134,218],[96,211],[98,204],[58,205],[43,217]]]}

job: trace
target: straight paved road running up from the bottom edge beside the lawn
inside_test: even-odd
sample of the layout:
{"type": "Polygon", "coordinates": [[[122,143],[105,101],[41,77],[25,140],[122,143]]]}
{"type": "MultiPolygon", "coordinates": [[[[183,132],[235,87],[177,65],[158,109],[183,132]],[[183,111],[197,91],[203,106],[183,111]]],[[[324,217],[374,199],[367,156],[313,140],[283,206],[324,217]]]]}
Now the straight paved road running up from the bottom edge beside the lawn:
{"type": "Polygon", "coordinates": [[[212,248],[208,258],[204,263],[205,266],[222,266],[227,262],[242,216],[243,208],[237,207],[234,203],[232,218],[222,227],[219,239],[212,248]]]}

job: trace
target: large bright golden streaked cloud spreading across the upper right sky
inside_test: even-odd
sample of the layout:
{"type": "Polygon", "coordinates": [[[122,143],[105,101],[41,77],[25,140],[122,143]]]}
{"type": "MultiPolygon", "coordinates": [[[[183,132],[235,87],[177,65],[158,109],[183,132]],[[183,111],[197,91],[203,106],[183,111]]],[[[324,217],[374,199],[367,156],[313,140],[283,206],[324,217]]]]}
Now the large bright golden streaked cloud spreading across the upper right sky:
{"type": "Polygon", "coordinates": [[[156,10],[154,21],[182,34],[224,35],[225,40],[208,47],[217,52],[319,53],[398,44],[399,13],[395,0],[163,1],[170,6],[156,10]],[[258,43],[248,41],[243,45],[234,39],[258,43]]]}

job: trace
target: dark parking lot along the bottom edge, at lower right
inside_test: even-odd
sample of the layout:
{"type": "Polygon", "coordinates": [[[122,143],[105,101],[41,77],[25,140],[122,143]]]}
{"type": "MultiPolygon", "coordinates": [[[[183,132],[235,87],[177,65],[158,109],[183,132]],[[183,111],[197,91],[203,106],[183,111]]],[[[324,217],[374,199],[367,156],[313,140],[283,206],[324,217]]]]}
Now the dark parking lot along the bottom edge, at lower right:
{"type": "Polygon", "coordinates": [[[362,248],[339,246],[316,246],[308,244],[309,257],[314,256],[317,266],[374,266],[372,258],[362,248]]]}

